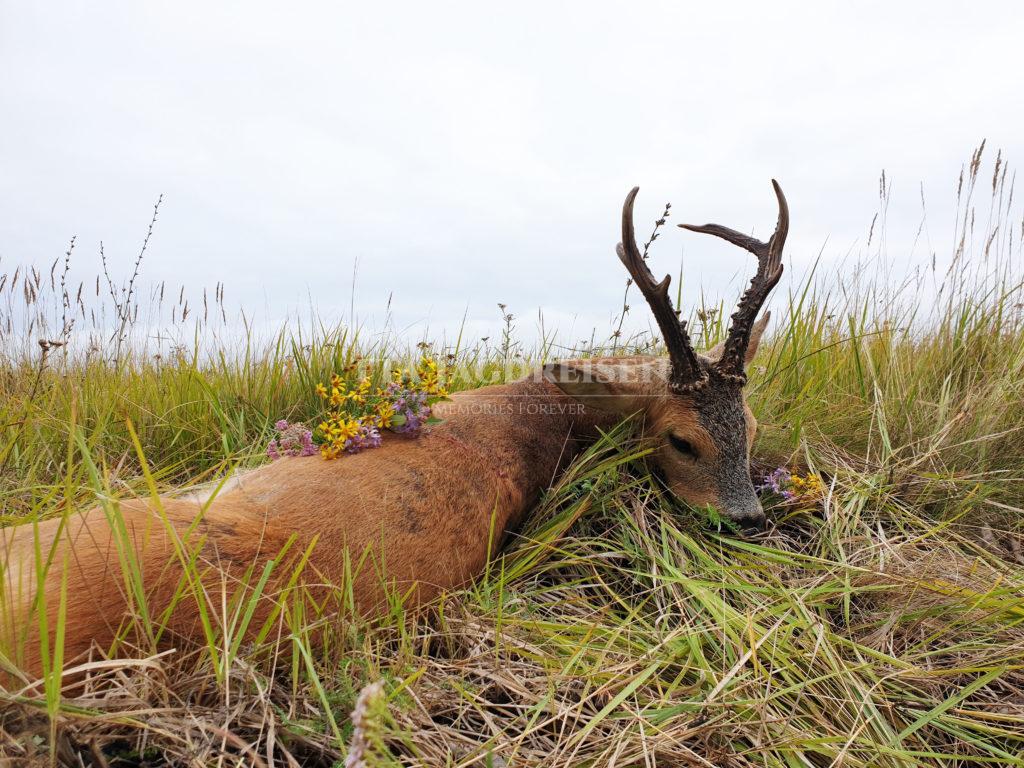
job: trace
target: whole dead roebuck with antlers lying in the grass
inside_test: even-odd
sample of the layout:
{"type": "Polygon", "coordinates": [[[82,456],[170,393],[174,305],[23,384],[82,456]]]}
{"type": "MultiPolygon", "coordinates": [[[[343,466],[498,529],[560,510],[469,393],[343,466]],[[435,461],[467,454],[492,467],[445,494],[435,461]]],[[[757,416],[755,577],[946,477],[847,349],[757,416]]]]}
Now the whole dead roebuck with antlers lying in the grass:
{"type": "MultiPolygon", "coordinates": [[[[205,595],[219,607],[224,585],[229,591],[250,568],[258,577],[292,537],[293,552],[315,541],[300,583],[314,598],[350,578],[355,609],[373,614],[386,598],[383,571],[412,603],[430,600],[480,573],[559,470],[598,430],[635,413],[656,444],[653,461],[673,494],[760,528],[765,516],[749,463],[757,423],[743,385],[768,315],[756,318],[782,273],[788,211],[773,184],[779,217],[767,243],[717,224],[682,225],[758,258],[757,275],[719,346],[693,350],[669,298],[669,276],[656,283],[647,268],[634,236],[634,188],[623,207],[618,257],[654,313],[668,357],[565,360],[511,384],[460,392],[438,408],[443,421],[420,437],[389,438],[339,461],[274,462],[244,475],[205,511],[196,500],[162,497],[8,528],[0,532],[6,561],[0,648],[23,670],[39,672],[38,612],[52,634],[65,567],[66,658],[93,643],[110,647],[140,601],[157,617],[178,600],[166,634],[198,639],[195,600],[205,595]],[[51,562],[41,594],[37,551],[51,562]],[[189,552],[198,553],[199,567],[183,567],[189,552]],[[376,566],[357,568],[367,553],[376,566]],[[126,558],[137,563],[134,581],[124,577],[126,558]],[[190,585],[194,602],[186,605],[182,584],[197,579],[189,571],[201,584],[190,585]]],[[[284,586],[271,580],[263,594],[284,586]]],[[[273,602],[260,600],[259,616],[271,614],[273,602]]]]}

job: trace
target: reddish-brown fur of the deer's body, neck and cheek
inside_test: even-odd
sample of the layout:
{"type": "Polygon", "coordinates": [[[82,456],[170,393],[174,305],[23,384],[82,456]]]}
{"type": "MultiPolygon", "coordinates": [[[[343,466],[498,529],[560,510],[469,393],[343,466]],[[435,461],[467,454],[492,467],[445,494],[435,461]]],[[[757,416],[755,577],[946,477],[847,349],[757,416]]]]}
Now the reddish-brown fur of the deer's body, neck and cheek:
{"type": "MultiPolygon", "coordinates": [[[[381,609],[385,582],[409,593],[410,603],[422,603],[477,575],[558,472],[599,428],[624,415],[642,412],[646,434],[667,439],[676,433],[709,462],[716,460],[722,446],[703,426],[698,403],[669,393],[659,373],[664,360],[566,362],[555,367],[556,374],[584,365],[596,366],[605,381],[581,389],[557,375],[556,383],[535,376],[462,392],[438,408],[443,421],[419,437],[388,434],[380,449],[331,462],[276,461],[241,476],[205,513],[196,498],[163,497],[160,506],[176,537],[191,547],[203,543],[203,586],[214,605],[247,568],[259,573],[293,536],[293,554],[316,542],[303,571],[303,585],[314,597],[326,597],[331,585],[343,581],[346,567],[366,558],[351,585],[357,610],[372,615],[381,609]],[[489,541],[492,530],[497,541],[489,541]]],[[[753,424],[750,417],[744,434],[753,436],[753,424]]],[[[740,450],[748,451],[749,443],[740,450]]],[[[655,462],[682,499],[723,503],[710,471],[695,471],[667,443],[655,462]]],[[[723,511],[729,514],[728,508],[723,511]]],[[[142,564],[147,605],[159,615],[182,574],[173,539],[154,500],[122,502],[120,513],[142,564]]],[[[51,632],[68,563],[66,658],[80,656],[93,643],[110,647],[129,607],[116,538],[102,508],[72,514],[65,523],[49,519],[0,530],[6,563],[0,571],[0,650],[29,674],[41,667],[33,612],[35,531],[42,551],[52,547],[55,554],[43,588],[51,632]]],[[[280,587],[271,584],[268,592],[280,587]]],[[[263,601],[254,628],[270,606],[263,601]]],[[[166,642],[198,639],[198,633],[195,604],[179,604],[166,642]]]]}

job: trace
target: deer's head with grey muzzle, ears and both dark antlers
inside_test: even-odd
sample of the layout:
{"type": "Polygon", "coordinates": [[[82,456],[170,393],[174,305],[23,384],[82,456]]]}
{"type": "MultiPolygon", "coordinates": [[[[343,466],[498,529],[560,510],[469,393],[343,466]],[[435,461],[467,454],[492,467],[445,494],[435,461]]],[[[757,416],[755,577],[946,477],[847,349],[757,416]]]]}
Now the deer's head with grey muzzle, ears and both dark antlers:
{"type": "Polygon", "coordinates": [[[644,436],[666,485],[694,506],[711,505],[744,530],[764,526],[765,515],[751,480],[750,452],[757,421],[746,404],[745,366],[757,352],[769,314],[758,321],[768,294],[782,276],[782,247],[790,229],[785,197],[772,181],[778,223],[767,243],[718,224],[683,228],[707,232],[743,248],[758,259],[757,274],[739,300],[729,332],[718,346],[695,352],[669,298],[670,275],[659,283],[647,268],[633,229],[634,187],[623,206],[622,259],[650,305],[668,357],[628,357],[557,364],[550,379],[588,407],[620,415],[640,413],[644,436]]]}

